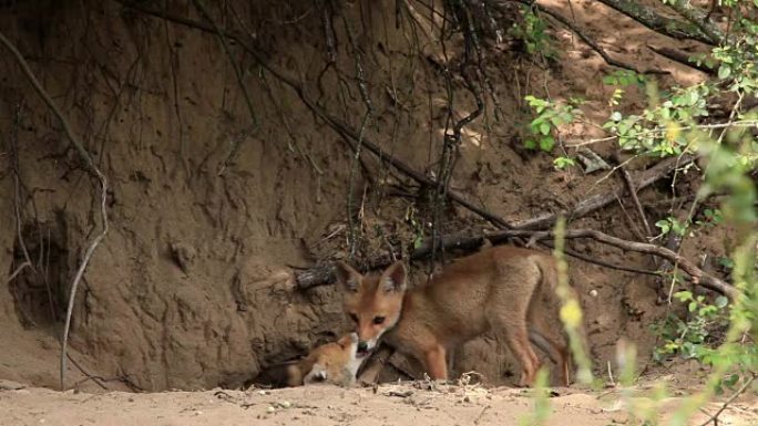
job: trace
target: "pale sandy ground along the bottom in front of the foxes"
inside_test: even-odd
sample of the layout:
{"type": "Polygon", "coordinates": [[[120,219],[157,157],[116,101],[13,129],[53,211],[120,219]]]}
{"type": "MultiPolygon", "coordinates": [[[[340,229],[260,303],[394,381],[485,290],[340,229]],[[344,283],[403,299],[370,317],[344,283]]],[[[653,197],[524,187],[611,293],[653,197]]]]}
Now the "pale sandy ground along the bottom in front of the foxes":
{"type": "MultiPolygon", "coordinates": [[[[644,387],[644,386],[643,386],[644,387]]],[[[674,391],[674,394],[680,394],[674,391]]],[[[547,425],[637,424],[624,411],[617,391],[582,393],[559,388],[550,398],[547,425]]],[[[680,397],[663,402],[666,417],[680,397]]],[[[715,413],[714,402],[705,412],[715,413]]],[[[277,391],[204,391],[132,394],[0,391],[2,425],[516,425],[533,413],[529,391],[479,386],[393,384],[378,388],[308,386],[277,391]]],[[[699,413],[690,425],[706,419],[699,413]]],[[[758,425],[755,397],[738,399],[719,425],[758,425]]]]}

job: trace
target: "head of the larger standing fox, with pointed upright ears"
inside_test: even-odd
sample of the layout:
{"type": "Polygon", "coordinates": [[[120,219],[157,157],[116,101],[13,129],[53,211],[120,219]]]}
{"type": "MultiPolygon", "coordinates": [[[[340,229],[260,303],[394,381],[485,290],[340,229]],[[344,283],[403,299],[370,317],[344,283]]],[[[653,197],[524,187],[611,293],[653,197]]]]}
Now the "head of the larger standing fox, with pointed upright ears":
{"type": "Polygon", "coordinates": [[[358,356],[365,356],[400,320],[406,267],[400,261],[395,262],[378,277],[361,276],[341,261],[337,262],[336,269],[345,313],[358,333],[358,356]]]}

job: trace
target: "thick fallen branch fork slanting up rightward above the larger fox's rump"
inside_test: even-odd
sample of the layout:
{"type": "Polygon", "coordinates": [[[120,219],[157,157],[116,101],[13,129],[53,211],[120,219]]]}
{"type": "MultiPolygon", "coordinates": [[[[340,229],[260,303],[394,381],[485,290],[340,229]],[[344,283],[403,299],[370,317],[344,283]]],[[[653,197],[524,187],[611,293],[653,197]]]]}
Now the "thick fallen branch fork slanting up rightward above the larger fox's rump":
{"type": "MultiPolygon", "coordinates": [[[[682,157],[672,157],[668,159],[664,159],[663,162],[656,164],[655,166],[648,168],[645,172],[639,172],[636,175],[636,177],[633,179],[634,180],[634,187],[637,189],[637,191],[642,190],[643,188],[649,186],[651,184],[655,183],[656,180],[665,177],[673,170],[675,170],[678,167],[682,167],[686,164],[689,164],[697,158],[694,155],[683,155],[682,157]]],[[[553,225],[555,220],[559,218],[559,216],[566,216],[570,219],[575,219],[578,217],[582,217],[588,212],[595,211],[602,207],[605,207],[610,205],[611,202],[615,201],[617,197],[622,197],[624,195],[624,191],[626,189],[624,187],[618,188],[614,191],[606,193],[606,194],[598,194],[596,196],[586,198],[582,200],[580,204],[574,207],[573,210],[571,211],[564,211],[564,212],[554,212],[554,214],[544,214],[541,216],[537,216],[535,218],[531,219],[525,219],[521,221],[516,221],[513,224],[514,229],[535,229],[535,228],[547,228],[549,226],[553,225]]]]}

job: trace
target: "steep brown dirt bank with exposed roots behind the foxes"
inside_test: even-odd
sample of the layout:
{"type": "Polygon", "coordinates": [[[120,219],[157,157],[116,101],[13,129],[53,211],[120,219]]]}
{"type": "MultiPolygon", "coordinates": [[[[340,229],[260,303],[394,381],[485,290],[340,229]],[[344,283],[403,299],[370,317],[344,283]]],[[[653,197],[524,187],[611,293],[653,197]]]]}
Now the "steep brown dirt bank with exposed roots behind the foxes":
{"type": "MultiPolygon", "coordinates": [[[[429,20],[429,11],[416,6],[396,14],[393,2],[329,2],[317,10],[303,2],[229,1],[212,15],[245,34],[225,40],[232,65],[192,2],[170,1],[168,18],[145,12],[148,3],[0,4],[3,33],[109,177],[110,232],[76,294],[71,341],[72,357],[107,387],[236,387],[263,367],[334,340],[347,326],[337,290],[298,290],[293,271],[347,258],[350,235],[358,262],[365,262],[386,254],[389,246],[407,250],[429,238],[436,215],[440,233],[494,229],[457,205],[436,210],[423,200],[437,188],[408,179],[367,148],[356,162],[351,145],[239,42],[296,76],[306,96],[356,129],[367,90],[372,110],[366,141],[434,176],[449,124],[442,52],[455,64],[464,56],[460,40],[443,50],[429,39],[443,17],[429,20]],[[199,22],[207,31],[170,17],[199,22]]],[[[607,28],[598,25],[613,23],[610,33],[628,34],[624,42],[635,63],[674,70],[664,83],[697,77],[647,53],[649,34],[632,20],[596,19],[594,13],[608,10],[592,1],[573,3],[575,19],[592,35],[601,38],[607,28]]],[[[508,29],[515,15],[501,18],[508,29]]],[[[465,126],[457,147],[451,190],[511,221],[570,208],[622,185],[602,173],[557,172],[551,156],[522,148],[525,94],[581,95],[587,110],[605,111],[600,80],[610,67],[567,32],[554,35],[570,59],[555,69],[539,67],[513,51],[513,43],[494,48],[483,70],[498,95],[500,120],[493,98],[485,100],[486,117],[465,126]]],[[[493,33],[484,42],[493,43],[493,33]]],[[[92,212],[98,186],[13,59],[0,56],[0,129],[16,139],[0,162],[11,170],[18,160],[20,180],[17,198],[13,174],[0,174],[0,222],[21,221],[20,233],[10,225],[0,232],[0,270],[10,277],[23,264],[22,246],[31,259],[0,291],[0,345],[13,346],[0,353],[0,377],[55,387],[62,308],[73,271],[102,225],[92,212]]],[[[453,117],[460,120],[475,102],[460,76],[450,84],[457,91],[453,117]]],[[[571,132],[566,136],[597,133],[583,125],[571,132]]],[[[593,148],[603,156],[613,150],[602,144],[593,148]]],[[[641,198],[655,200],[667,190],[652,187],[641,198]]],[[[635,220],[614,206],[572,225],[635,239],[629,227],[635,220]]],[[[586,241],[570,246],[617,264],[652,264],[586,241]]],[[[683,250],[689,256],[703,249],[683,250]]],[[[707,250],[723,256],[710,243],[707,250]]],[[[653,280],[577,260],[571,266],[595,364],[604,368],[613,360],[619,336],[635,341],[641,360],[647,360],[648,325],[664,312],[653,280]]],[[[419,282],[426,266],[414,269],[419,282]]],[[[385,378],[419,375],[408,360],[393,364],[385,378]]],[[[453,370],[480,372],[489,384],[512,384],[514,366],[504,349],[483,336],[457,351],[453,370]]],[[[96,386],[74,366],[68,374],[69,383],[96,386]]]]}

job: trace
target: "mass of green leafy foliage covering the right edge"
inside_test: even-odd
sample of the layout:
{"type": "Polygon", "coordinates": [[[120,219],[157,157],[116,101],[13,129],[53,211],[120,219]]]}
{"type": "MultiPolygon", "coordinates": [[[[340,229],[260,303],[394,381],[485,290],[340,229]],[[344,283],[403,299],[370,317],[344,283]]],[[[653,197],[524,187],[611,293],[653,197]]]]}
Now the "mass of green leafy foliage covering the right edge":
{"type": "MultiPolygon", "coordinates": [[[[680,0],[675,2],[677,7],[698,8],[680,0]]],[[[688,424],[715,394],[735,391],[758,377],[758,210],[755,207],[758,202],[755,181],[758,111],[745,107],[758,93],[758,13],[755,9],[758,0],[720,0],[719,6],[735,8],[728,12],[729,27],[725,40],[709,54],[690,59],[714,66],[717,71],[714,79],[659,91],[655,81],[629,71],[616,71],[603,79],[603,83],[612,87],[607,102],[608,118],[595,124],[606,131],[608,139],[617,142],[618,148],[636,156],[698,154],[703,162],[678,173],[694,169],[703,173],[703,185],[697,194],[699,201],[713,194],[726,195],[718,208],[709,207],[699,212],[693,210],[692,217],[668,217],[656,222],[660,236],[675,232],[688,238],[697,236],[697,229],[725,225],[734,238],[728,257],[717,259],[737,289],[729,294],[730,299],[698,295],[692,291],[677,292],[674,303],[684,309],[685,315],[670,314],[654,325],[662,342],[655,350],[656,360],[695,359],[710,367],[705,388],[683,398],[680,408],[667,422],[677,426],[688,424]],[[648,97],[647,106],[636,111],[624,110],[622,101],[627,91],[643,86],[648,97]],[[708,107],[724,105],[725,102],[730,103],[727,104],[729,108],[711,116],[708,107]],[[705,168],[700,169],[703,165],[705,168]]],[[[546,148],[544,150],[551,150],[559,126],[582,116],[578,104],[556,104],[533,96],[527,96],[526,101],[534,113],[529,126],[532,137],[526,142],[532,148],[542,146],[546,148]],[[562,111],[568,113],[563,116],[566,120],[554,123],[551,118],[562,111]]],[[[582,120],[585,122],[586,117],[582,116],[582,120]]],[[[600,141],[604,139],[587,143],[600,141]]],[[[580,145],[584,144],[575,144],[580,145]]],[[[571,166],[571,154],[561,153],[554,159],[554,166],[571,166]]],[[[697,282],[697,277],[693,278],[697,282]]],[[[675,277],[675,280],[679,279],[675,277]]],[[[563,320],[567,322],[565,318],[563,320]]],[[[634,362],[629,361],[633,356],[624,357],[634,362]]],[[[622,363],[621,367],[622,372],[632,372],[624,373],[626,377],[622,381],[623,386],[628,386],[634,368],[628,363],[622,363]]],[[[643,399],[635,398],[635,392],[623,389],[624,397],[628,396],[629,414],[635,418],[632,424],[639,424],[636,419],[657,424],[660,408],[657,403],[665,399],[665,388],[642,392],[651,403],[642,408],[635,405],[635,401],[643,399]]]]}

